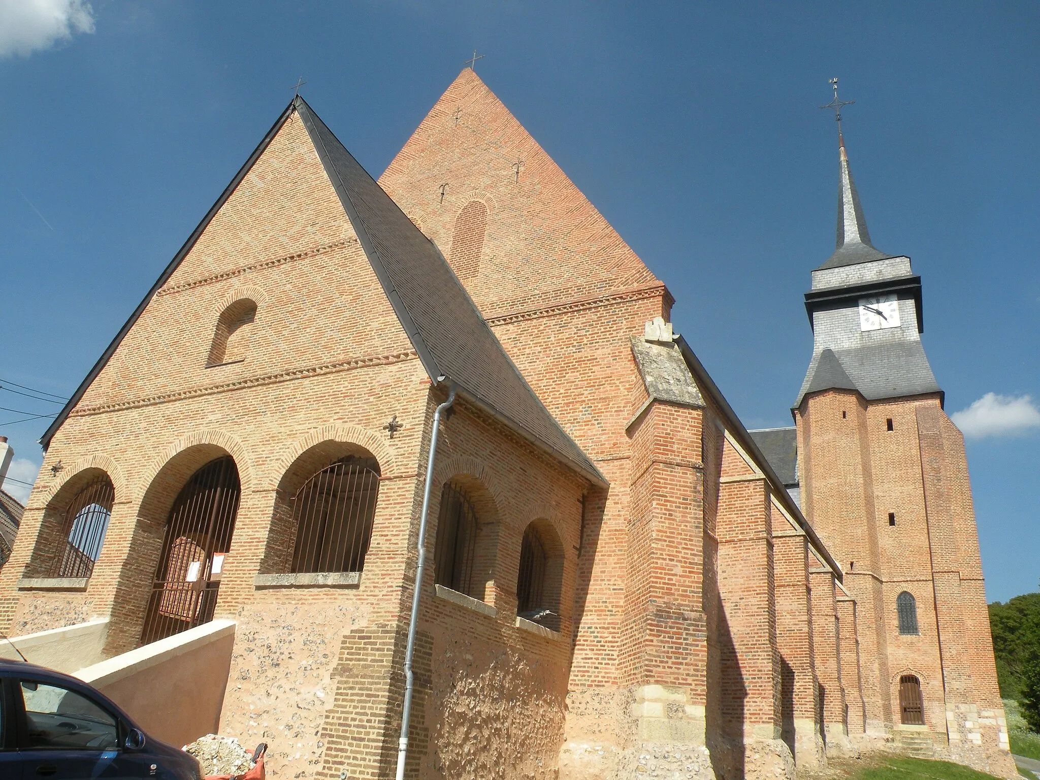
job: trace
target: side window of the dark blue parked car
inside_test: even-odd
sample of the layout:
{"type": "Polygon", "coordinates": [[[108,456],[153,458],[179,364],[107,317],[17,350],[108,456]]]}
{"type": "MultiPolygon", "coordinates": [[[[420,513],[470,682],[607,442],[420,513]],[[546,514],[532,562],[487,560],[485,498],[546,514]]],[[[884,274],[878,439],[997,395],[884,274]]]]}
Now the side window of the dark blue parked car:
{"type": "Polygon", "coordinates": [[[21,680],[30,750],[115,750],[119,722],[82,694],[21,680]]]}

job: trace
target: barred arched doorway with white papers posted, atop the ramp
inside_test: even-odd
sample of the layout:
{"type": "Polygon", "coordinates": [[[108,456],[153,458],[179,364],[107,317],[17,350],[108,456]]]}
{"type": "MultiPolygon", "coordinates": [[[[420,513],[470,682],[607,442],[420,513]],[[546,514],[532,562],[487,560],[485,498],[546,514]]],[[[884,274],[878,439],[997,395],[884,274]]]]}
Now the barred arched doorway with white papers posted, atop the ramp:
{"type": "Polygon", "coordinates": [[[142,645],[213,619],[240,493],[230,456],[210,461],[181,488],[163,534],[142,645]]]}

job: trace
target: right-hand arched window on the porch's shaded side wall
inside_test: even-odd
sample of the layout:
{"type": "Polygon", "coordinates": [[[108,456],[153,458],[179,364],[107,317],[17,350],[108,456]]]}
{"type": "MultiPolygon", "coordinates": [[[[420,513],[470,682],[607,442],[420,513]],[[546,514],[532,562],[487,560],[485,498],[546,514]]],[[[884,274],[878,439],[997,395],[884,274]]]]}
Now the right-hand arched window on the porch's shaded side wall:
{"type": "Polygon", "coordinates": [[[560,593],[563,545],[544,520],[530,523],[520,543],[517,576],[517,615],[554,631],[560,630],[560,593]]]}

